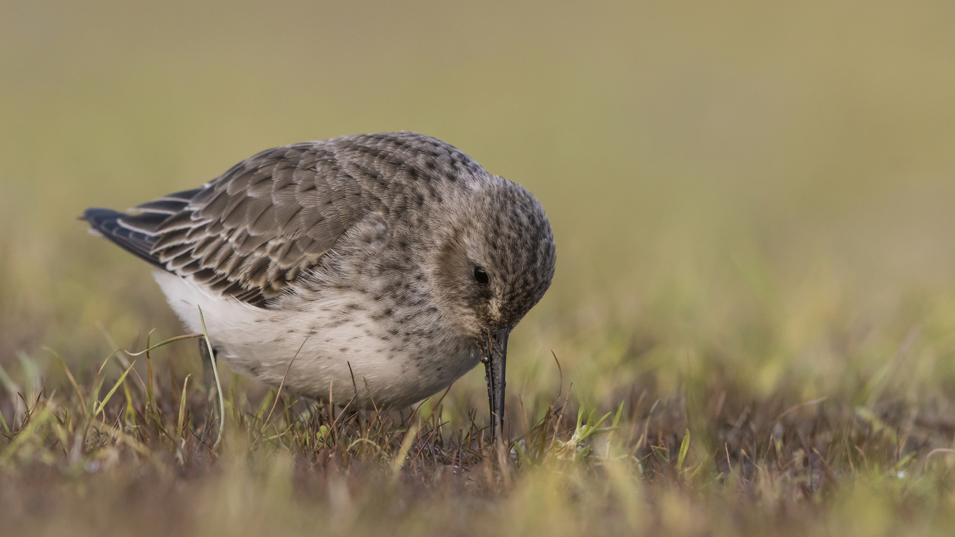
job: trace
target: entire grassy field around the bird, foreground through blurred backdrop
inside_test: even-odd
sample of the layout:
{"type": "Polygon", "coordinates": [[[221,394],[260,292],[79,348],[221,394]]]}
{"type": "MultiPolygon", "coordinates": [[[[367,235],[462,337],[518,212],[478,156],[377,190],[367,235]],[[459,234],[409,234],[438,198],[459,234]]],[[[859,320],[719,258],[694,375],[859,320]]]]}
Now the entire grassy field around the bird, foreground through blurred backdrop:
{"type": "Polygon", "coordinates": [[[0,12],[4,534],[955,524],[950,3],[0,12]],[[554,285],[511,338],[513,456],[481,450],[479,371],[376,418],[272,410],[223,368],[215,446],[194,341],[152,353],[152,380],[142,355],[123,383],[117,357],[99,373],[182,329],[83,208],[388,130],[456,144],[554,226],[554,285]],[[619,428],[580,439],[579,408],[620,403],[619,428]]]}

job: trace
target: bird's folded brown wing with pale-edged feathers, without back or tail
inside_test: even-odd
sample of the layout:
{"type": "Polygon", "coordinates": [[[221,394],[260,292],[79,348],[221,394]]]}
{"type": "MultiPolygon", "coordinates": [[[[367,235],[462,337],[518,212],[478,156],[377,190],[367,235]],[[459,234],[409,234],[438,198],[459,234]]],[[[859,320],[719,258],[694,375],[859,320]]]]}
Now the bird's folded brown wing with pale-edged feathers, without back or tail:
{"type": "Polygon", "coordinates": [[[266,150],[202,188],[138,205],[139,214],[116,224],[151,239],[147,260],[263,306],[318,263],[364,212],[361,205],[361,188],[333,149],[306,142],[266,150]]]}

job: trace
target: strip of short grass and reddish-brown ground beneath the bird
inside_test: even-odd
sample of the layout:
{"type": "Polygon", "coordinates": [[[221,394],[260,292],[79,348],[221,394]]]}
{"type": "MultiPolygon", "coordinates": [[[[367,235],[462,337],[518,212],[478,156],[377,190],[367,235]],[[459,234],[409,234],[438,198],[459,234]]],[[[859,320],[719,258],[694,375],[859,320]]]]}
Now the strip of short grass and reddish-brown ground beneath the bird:
{"type": "MultiPolygon", "coordinates": [[[[198,335],[147,349],[181,351],[181,340],[198,335]]],[[[694,418],[686,393],[661,399],[645,389],[605,413],[569,395],[538,410],[519,398],[509,405],[520,409],[509,415],[512,440],[496,452],[481,413],[449,408],[443,396],[359,411],[233,382],[215,409],[201,383],[176,379],[171,362],[143,378],[130,375],[135,361],[108,359],[83,382],[57,363],[65,384],[18,393],[21,418],[0,406],[4,422],[16,423],[0,438],[9,527],[853,535],[909,530],[902,521],[913,517],[929,534],[955,518],[953,426],[897,399],[870,407],[854,397],[790,404],[706,393],[720,409],[694,418]],[[120,390],[130,379],[134,389],[120,390]],[[878,531],[845,522],[859,513],[876,517],[859,524],[878,531]]]]}

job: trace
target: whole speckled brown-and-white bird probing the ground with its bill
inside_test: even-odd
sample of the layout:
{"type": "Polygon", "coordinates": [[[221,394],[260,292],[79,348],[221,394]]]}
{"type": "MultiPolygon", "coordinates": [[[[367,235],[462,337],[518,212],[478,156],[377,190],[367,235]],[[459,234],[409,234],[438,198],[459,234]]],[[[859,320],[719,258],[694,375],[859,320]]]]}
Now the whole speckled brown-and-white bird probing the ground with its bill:
{"type": "Polygon", "coordinates": [[[266,149],[198,188],[81,219],[155,268],[216,359],[266,385],[403,407],[483,363],[492,439],[509,334],[556,263],[526,188],[404,131],[266,149]]]}

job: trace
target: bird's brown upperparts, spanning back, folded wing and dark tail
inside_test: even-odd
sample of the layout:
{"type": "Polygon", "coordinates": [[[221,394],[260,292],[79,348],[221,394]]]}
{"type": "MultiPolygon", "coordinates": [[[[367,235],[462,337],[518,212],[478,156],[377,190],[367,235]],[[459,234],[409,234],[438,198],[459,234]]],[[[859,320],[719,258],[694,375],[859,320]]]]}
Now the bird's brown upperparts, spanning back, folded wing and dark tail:
{"type": "Polygon", "coordinates": [[[140,258],[256,306],[286,290],[369,210],[420,208],[434,185],[485,173],[455,147],[381,133],[268,149],[195,190],[84,218],[140,258]]]}

